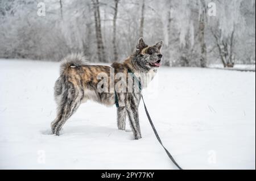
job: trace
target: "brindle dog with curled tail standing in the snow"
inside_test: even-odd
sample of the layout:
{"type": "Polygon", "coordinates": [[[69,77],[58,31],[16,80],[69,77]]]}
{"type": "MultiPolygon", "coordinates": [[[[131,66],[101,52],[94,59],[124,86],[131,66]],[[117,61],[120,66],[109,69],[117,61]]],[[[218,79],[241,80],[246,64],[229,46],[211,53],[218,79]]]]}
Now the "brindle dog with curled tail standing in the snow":
{"type": "MultiPolygon", "coordinates": [[[[151,73],[150,81],[162,64],[162,54],[160,50],[163,41],[159,41],[153,46],[148,46],[140,38],[136,50],[123,63],[113,63],[112,66],[88,65],[86,59],[81,54],[69,54],[63,59],[60,65],[60,77],[55,83],[55,101],[57,104],[57,117],[51,123],[52,134],[59,136],[60,130],[65,122],[76,112],[81,103],[86,100],[113,106],[117,104],[117,126],[119,130],[125,130],[126,116],[129,118],[130,126],[135,140],[142,138],[139,125],[139,102],[141,92],[135,91],[137,83],[132,84],[133,89],[129,89],[128,81],[119,83],[118,86],[110,88],[111,84],[118,84],[118,80],[111,81],[114,76],[121,73],[125,77],[132,77],[130,74],[151,73]],[[114,70],[114,71],[113,71],[114,70]],[[100,75],[100,76],[99,76],[100,75]],[[107,76],[107,81],[102,83],[102,77],[107,76]],[[113,83],[114,82],[114,83],[113,83]],[[104,84],[105,83],[105,84],[104,84]],[[122,91],[115,89],[122,87],[122,91]],[[123,87],[125,91],[123,91],[123,87]],[[102,91],[105,90],[105,91],[102,91]]],[[[135,77],[135,75],[134,75],[135,77]]],[[[140,77],[140,81],[142,78],[140,77]]],[[[147,80],[148,81],[148,80],[147,80]]],[[[143,88],[147,83],[143,83],[143,88]]]]}

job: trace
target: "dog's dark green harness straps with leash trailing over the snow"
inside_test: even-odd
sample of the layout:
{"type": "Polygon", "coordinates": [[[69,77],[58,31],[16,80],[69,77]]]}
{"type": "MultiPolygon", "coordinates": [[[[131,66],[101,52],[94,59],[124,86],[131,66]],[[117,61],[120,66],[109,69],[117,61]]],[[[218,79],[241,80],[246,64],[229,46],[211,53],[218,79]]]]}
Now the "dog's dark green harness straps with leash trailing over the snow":
{"type": "MultiPolygon", "coordinates": [[[[136,81],[136,82],[138,83],[138,85],[139,85],[139,91],[140,91],[140,93],[141,93],[141,91],[142,91],[141,82],[140,82],[140,81],[138,80],[138,78],[134,75],[133,71],[131,71],[130,69],[128,69],[128,72],[129,72],[129,73],[132,73],[132,75],[133,75],[135,81],[136,81]]],[[[178,169],[183,170],[183,169],[179,166],[179,164],[177,164],[177,162],[175,161],[174,157],[172,157],[171,153],[164,147],[164,145],[163,145],[163,143],[162,143],[162,141],[161,141],[161,139],[160,139],[160,137],[159,137],[159,135],[158,135],[158,132],[156,131],[155,126],[154,126],[154,124],[153,124],[153,122],[152,122],[152,120],[151,120],[151,117],[150,117],[150,115],[149,115],[149,113],[148,113],[148,111],[147,111],[147,107],[146,107],[146,104],[145,104],[145,102],[144,102],[144,99],[143,99],[143,95],[142,95],[142,94],[141,94],[141,98],[142,98],[142,100],[143,100],[143,104],[144,104],[144,108],[145,108],[145,111],[146,111],[147,119],[148,119],[148,121],[150,122],[150,125],[151,125],[151,127],[152,127],[152,129],[153,129],[153,131],[154,131],[154,133],[155,133],[155,136],[156,136],[156,138],[158,139],[160,145],[163,146],[163,148],[164,148],[164,150],[166,151],[168,157],[171,159],[171,161],[174,163],[174,165],[175,165],[178,169]]],[[[116,91],[115,91],[115,106],[117,106],[117,108],[119,107],[119,104],[118,104],[118,96],[117,96],[117,92],[116,92],[116,91]]]]}

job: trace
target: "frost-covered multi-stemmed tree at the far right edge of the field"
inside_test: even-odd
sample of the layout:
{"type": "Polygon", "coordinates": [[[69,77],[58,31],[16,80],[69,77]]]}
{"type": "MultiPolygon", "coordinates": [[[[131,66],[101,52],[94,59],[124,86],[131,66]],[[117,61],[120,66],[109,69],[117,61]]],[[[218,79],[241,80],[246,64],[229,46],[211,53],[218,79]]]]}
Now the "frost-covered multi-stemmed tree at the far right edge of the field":
{"type": "MultiPolygon", "coordinates": [[[[252,32],[255,35],[255,1],[216,1],[216,4],[216,17],[210,18],[213,42],[217,49],[214,53],[218,54],[217,58],[221,60],[224,67],[233,67],[236,61],[242,62],[245,60],[245,57],[243,57],[245,55],[239,49],[243,47],[244,42],[250,40],[248,35],[253,27],[252,32]],[[248,17],[245,14],[245,3],[248,2],[250,6],[254,6],[254,23],[252,23],[252,26],[246,22],[248,17]]],[[[255,53],[250,53],[250,56],[253,56],[253,54],[255,57],[255,53]]]]}

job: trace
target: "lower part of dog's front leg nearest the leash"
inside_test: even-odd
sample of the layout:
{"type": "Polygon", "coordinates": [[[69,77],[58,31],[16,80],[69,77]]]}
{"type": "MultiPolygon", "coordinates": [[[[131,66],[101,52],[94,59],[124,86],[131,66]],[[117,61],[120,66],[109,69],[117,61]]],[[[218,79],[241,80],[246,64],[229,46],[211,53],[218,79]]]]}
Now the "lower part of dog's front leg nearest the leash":
{"type": "Polygon", "coordinates": [[[141,128],[139,126],[139,111],[137,106],[128,106],[126,108],[128,113],[131,129],[133,130],[135,140],[142,138],[141,128]]]}

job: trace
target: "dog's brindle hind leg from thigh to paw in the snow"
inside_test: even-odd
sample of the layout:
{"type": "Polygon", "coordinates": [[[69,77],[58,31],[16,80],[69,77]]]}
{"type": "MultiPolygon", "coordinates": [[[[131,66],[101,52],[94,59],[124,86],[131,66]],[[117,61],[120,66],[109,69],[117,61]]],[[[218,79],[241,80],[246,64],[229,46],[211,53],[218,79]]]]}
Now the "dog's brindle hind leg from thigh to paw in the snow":
{"type": "Polygon", "coordinates": [[[58,98],[57,117],[51,123],[52,134],[59,136],[60,129],[65,122],[76,112],[81,104],[83,98],[83,92],[77,87],[74,87],[72,83],[69,83],[67,89],[63,90],[62,94],[58,98]]]}

